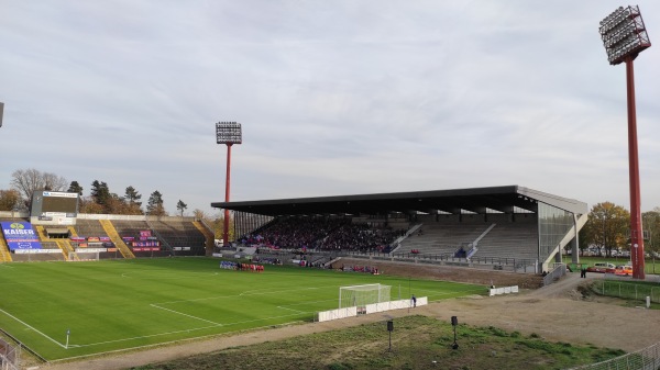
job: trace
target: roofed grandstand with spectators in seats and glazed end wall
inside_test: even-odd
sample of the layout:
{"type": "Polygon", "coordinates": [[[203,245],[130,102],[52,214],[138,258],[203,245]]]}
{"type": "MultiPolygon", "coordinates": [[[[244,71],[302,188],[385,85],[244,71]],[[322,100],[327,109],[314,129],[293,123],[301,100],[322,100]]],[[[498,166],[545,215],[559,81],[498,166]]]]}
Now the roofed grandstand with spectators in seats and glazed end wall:
{"type": "MultiPolygon", "coordinates": [[[[234,240],[267,258],[340,257],[540,273],[579,258],[587,205],[519,187],[215,202],[233,212],[234,240]]],[[[296,259],[298,258],[298,259],[296,259]]],[[[574,260],[578,262],[578,260],[574,260]]]]}

